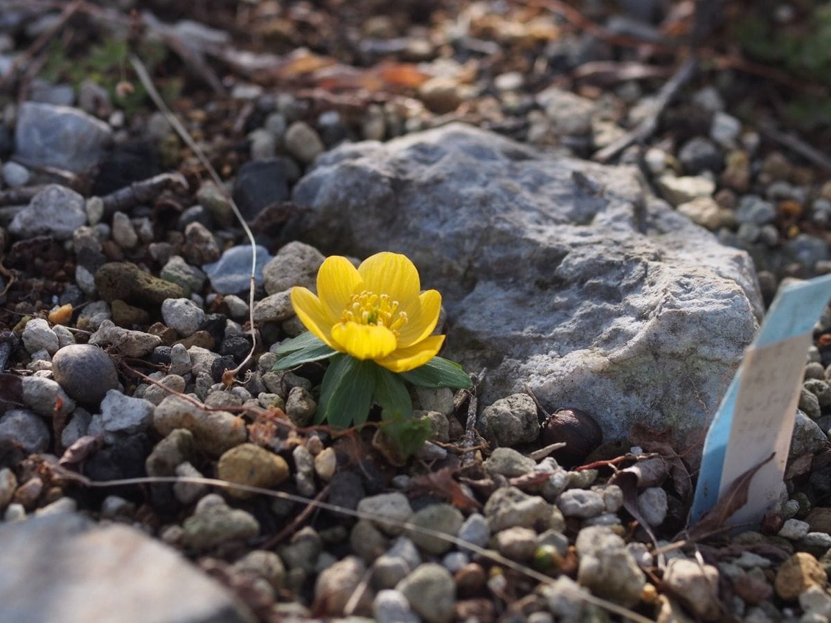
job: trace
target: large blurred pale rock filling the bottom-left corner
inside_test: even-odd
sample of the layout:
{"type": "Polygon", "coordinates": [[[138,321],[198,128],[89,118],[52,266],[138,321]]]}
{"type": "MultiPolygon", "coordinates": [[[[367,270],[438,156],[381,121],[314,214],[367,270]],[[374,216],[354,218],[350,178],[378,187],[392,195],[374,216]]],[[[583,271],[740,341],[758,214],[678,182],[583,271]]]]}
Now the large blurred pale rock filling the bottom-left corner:
{"type": "Polygon", "coordinates": [[[76,514],[0,524],[0,621],[253,621],[228,591],[143,532],[76,514]]]}

